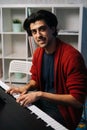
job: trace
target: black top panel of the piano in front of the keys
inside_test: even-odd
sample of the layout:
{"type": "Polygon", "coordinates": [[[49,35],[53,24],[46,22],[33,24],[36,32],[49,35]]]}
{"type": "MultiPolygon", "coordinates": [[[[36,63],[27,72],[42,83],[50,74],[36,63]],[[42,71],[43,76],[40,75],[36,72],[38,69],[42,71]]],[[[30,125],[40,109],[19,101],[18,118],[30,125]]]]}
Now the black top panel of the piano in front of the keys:
{"type": "Polygon", "coordinates": [[[0,130],[53,130],[0,87],[0,130]]]}

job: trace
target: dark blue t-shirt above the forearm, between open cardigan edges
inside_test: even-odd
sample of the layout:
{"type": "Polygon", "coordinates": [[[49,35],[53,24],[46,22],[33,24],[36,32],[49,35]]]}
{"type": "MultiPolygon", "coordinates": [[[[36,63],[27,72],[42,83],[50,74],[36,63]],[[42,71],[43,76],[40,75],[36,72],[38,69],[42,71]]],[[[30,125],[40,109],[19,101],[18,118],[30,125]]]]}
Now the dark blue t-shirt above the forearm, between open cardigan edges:
{"type": "Polygon", "coordinates": [[[42,82],[45,91],[54,92],[54,53],[43,55],[42,61],[42,82]]]}

